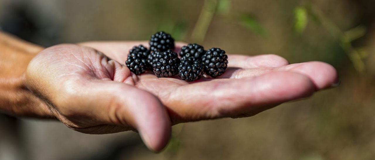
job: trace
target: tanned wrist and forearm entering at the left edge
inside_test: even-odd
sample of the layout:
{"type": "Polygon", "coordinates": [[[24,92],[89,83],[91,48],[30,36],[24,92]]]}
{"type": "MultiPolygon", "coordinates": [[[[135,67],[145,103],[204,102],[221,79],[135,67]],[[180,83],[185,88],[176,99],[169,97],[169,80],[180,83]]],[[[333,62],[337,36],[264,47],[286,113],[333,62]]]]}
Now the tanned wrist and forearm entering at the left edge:
{"type": "Polygon", "coordinates": [[[27,65],[43,48],[0,32],[0,113],[53,117],[48,104],[24,85],[27,65]]]}

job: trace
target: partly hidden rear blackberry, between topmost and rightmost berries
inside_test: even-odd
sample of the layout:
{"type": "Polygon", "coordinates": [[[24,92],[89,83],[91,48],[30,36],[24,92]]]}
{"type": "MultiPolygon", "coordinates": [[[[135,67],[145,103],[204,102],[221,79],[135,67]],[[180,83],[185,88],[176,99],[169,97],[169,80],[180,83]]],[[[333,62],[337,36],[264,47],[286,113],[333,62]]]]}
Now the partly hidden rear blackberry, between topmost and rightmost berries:
{"type": "Polygon", "coordinates": [[[204,50],[204,47],[199,44],[187,44],[187,46],[181,47],[180,56],[181,61],[189,58],[194,57],[195,59],[201,59],[202,55],[206,51],[204,50]]]}

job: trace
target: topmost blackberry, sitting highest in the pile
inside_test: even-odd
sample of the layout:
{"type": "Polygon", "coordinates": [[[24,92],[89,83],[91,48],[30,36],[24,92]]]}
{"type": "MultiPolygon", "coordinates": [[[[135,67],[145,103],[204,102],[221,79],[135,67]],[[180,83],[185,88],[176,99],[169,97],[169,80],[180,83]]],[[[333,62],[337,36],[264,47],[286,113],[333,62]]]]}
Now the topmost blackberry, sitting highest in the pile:
{"type": "Polygon", "coordinates": [[[170,34],[160,31],[151,36],[150,50],[164,52],[168,49],[174,49],[174,39],[170,34]]]}

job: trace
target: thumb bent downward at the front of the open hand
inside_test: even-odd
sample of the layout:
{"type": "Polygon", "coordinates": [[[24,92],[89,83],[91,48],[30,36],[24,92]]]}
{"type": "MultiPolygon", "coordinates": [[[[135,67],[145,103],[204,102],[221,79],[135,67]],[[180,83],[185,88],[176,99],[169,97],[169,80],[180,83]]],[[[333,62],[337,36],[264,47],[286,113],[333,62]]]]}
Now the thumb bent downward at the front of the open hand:
{"type": "Polygon", "coordinates": [[[95,80],[89,88],[90,92],[96,93],[95,99],[99,102],[95,108],[98,117],[136,128],[150,150],[160,151],[168,143],[171,122],[166,108],[156,96],[115,81],[95,80]],[[108,113],[103,114],[102,107],[106,104],[110,104],[108,113]]]}

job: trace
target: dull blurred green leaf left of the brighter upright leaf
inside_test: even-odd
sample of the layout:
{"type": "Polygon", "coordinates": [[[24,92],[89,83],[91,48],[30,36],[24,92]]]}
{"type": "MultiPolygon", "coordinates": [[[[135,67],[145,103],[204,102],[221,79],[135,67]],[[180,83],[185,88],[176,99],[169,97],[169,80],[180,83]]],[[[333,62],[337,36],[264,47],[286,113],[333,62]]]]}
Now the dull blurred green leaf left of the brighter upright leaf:
{"type": "Polygon", "coordinates": [[[260,36],[267,37],[267,32],[260,22],[254,16],[249,14],[240,14],[240,25],[248,28],[249,30],[257,33],[260,36]]]}

